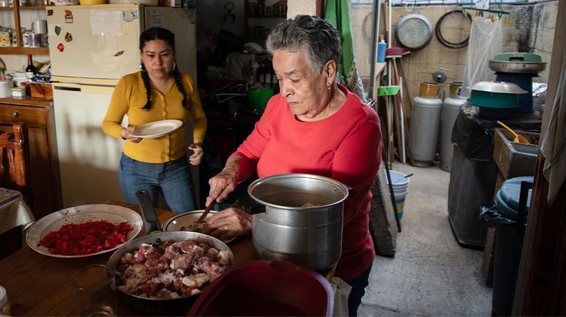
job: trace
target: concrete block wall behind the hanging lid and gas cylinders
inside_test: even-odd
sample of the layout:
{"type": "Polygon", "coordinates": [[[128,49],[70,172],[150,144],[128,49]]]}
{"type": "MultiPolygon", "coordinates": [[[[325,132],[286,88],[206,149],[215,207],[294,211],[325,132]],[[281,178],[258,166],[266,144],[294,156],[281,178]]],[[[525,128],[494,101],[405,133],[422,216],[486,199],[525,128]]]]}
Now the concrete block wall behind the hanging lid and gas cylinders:
{"type": "MultiPolygon", "coordinates": [[[[391,39],[392,46],[399,47],[395,39],[395,25],[404,15],[419,13],[427,17],[433,28],[442,14],[451,10],[459,10],[461,6],[412,6],[393,7],[391,11],[391,39]]],[[[543,61],[549,63],[552,54],[552,43],[554,39],[554,27],[556,25],[556,12],[558,11],[558,1],[527,4],[522,6],[502,6],[502,10],[510,12],[508,15],[511,23],[503,27],[503,52],[530,52],[539,54],[543,61]]],[[[373,7],[371,5],[352,5],[351,23],[353,30],[354,49],[358,73],[364,81],[369,81],[371,72],[371,23],[373,19],[373,7]]],[[[465,24],[465,19],[462,19],[465,24]]],[[[468,22],[469,23],[469,22],[468,22]]],[[[384,20],[381,19],[380,34],[384,34],[384,20]]],[[[458,25],[457,25],[458,26],[458,25]]],[[[453,32],[469,32],[462,26],[453,28],[453,32]]],[[[461,34],[447,34],[451,38],[460,39],[461,34]]],[[[464,48],[447,48],[436,35],[430,43],[408,55],[402,57],[402,67],[409,88],[409,97],[406,95],[404,102],[405,114],[410,118],[409,98],[418,96],[419,85],[422,81],[432,81],[432,72],[438,68],[447,70],[447,81],[442,83],[442,88],[447,96],[449,94],[449,84],[451,81],[462,81],[465,63],[467,59],[467,46],[464,48]]],[[[549,74],[547,69],[540,72],[534,81],[547,83],[549,74]]],[[[366,91],[366,93],[368,93],[366,91]]]]}

